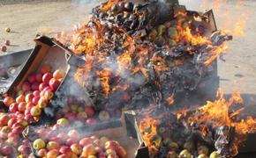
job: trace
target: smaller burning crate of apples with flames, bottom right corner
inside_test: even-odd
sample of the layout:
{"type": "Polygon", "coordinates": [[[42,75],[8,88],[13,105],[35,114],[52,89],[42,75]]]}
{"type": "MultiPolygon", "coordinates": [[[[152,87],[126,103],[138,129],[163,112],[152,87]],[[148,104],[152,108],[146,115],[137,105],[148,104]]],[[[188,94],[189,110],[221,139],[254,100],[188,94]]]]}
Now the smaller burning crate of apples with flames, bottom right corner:
{"type": "Polygon", "coordinates": [[[232,157],[256,131],[255,118],[239,117],[242,104],[237,92],[226,100],[219,91],[214,102],[194,111],[146,111],[139,114],[139,133],[153,157],[232,157]]]}

